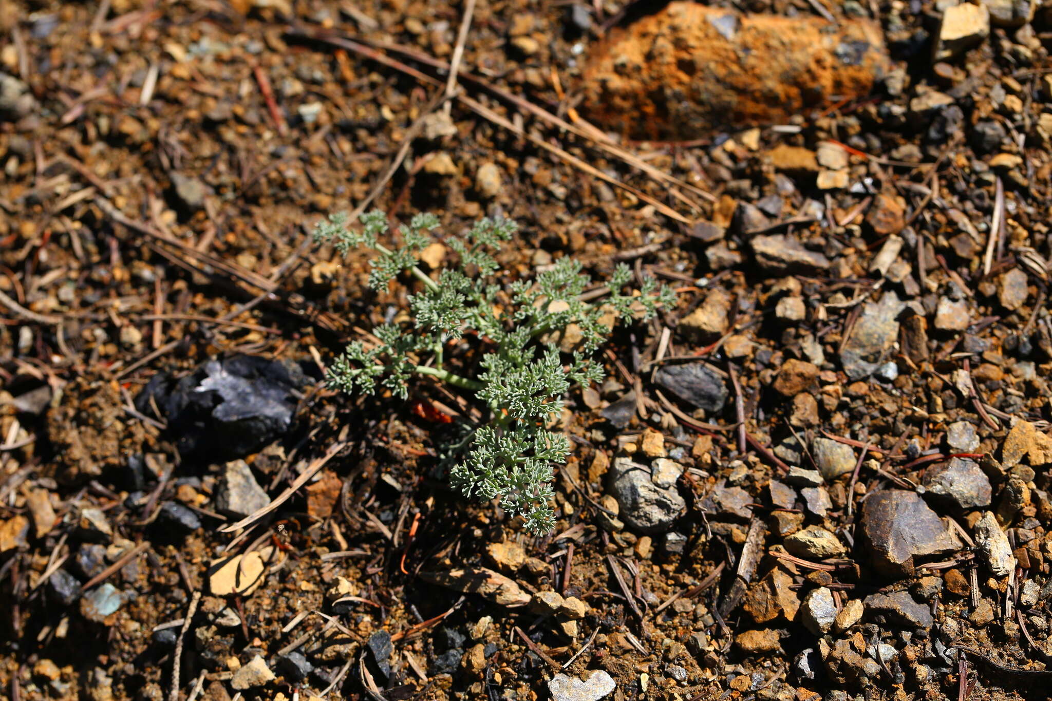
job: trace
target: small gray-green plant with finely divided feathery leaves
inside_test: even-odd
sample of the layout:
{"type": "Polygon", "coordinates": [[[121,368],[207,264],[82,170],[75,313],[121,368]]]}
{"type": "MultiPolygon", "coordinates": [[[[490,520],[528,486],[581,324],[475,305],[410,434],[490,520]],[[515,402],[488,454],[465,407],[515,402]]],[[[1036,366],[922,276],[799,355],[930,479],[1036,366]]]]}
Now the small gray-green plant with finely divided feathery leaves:
{"type": "Polygon", "coordinates": [[[549,431],[551,418],[563,410],[563,396],[573,384],[603,378],[592,355],[605,343],[611,324],[642,311],[645,317],[660,305],[674,305],[674,294],[644,279],[638,291],[623,293],[632,273],[620,265],[608,286],[603,307],[586,304],[581,294],[591,284],[581,264],[563,257],[533,280],[502,285],[493,252],[511,240],[514,222],[483,219],[463,236],[447,236],[457,253],[456,266],[434,280],[417,265],[439,225],[433,214],[418,214],[401,226],[401,246],[380,243],[387,233],[387,217],[372,211],[361,217],[361,229],[348,228],[346,214],[333,214],[315,230],[319,242],[331,242],[343,254],[365,246],[378,253],[369,265],[369,287],[376,291],[408,271],[419,281],[409,297],[413,322],[384,324],[373,329],[377,346],[351,343],[330,365],[327,382],[345,392],[372,393],[378,387],[403,399],[414,375],[430,375],[474,393],[486,405],[488,419],[449,448],[457,463],[450,479],[465,496],[500,499],[510,515],[522,515],[535,534],[554,527],[551,508],[552,465],[570,453],[566,436],[549,431]],[[581,339],[572,354],[562,355],[550,338],[574,327],[581,339]],[[450,341],[477,336],[482,357],[474,376],[457,374],[444,365],[450,341]]]}

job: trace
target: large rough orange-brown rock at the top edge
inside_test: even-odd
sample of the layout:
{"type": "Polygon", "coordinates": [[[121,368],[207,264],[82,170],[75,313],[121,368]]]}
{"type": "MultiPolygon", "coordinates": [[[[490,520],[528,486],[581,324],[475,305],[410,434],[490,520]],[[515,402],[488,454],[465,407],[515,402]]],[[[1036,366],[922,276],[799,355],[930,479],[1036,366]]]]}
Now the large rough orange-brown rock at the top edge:
{"type": "Polygon", "coordinates": [[[889,66],[881,27],[740,15],[675,1],[611,30],[584,70],[588,117],[640,139],[778,123],[867,95],[889,66]]]}

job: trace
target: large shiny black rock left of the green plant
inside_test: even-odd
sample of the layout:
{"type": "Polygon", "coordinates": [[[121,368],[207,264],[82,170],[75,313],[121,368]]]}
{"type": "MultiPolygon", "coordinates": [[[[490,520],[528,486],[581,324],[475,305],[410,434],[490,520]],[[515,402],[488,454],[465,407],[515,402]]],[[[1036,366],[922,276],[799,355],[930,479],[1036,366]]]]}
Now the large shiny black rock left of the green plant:
{"type": "Polygon", "coordinates": [[[182,455],[218,462],[244,457],[285,433],[305,382],[298,366],[235,355],[208,360],[178,380],[158,373],[135,404],[148,416],[156,404],[182,455]]]}

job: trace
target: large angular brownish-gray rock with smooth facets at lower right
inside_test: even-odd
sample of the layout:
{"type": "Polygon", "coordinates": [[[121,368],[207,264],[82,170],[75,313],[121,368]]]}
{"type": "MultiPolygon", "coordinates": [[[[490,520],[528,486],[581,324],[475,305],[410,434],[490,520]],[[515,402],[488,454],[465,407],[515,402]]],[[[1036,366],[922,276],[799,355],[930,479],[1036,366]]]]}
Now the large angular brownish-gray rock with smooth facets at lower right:
{"type": "Polygon", "coordinates": [[[913,573],[914,558],[960,548],[956,535],[914,492],[882,490],[866,499],[862,535],[879,574],[913,573]]]}

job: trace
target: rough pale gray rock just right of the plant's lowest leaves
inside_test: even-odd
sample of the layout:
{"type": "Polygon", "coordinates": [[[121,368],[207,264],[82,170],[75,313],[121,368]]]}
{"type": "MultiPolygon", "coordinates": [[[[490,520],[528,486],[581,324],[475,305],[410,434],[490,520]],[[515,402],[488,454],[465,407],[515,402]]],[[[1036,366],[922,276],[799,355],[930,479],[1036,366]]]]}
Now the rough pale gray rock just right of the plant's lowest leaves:
{"type": "Polygon", "coordinates": [[[668,531],[687,507],[675,488],[658,487],[649,467],[627,457],[614,458],[608,486],[618,500],[619,517],[641,533],[668,531]]]}

